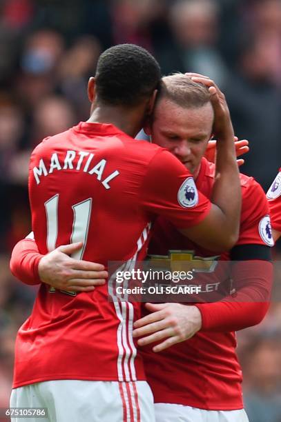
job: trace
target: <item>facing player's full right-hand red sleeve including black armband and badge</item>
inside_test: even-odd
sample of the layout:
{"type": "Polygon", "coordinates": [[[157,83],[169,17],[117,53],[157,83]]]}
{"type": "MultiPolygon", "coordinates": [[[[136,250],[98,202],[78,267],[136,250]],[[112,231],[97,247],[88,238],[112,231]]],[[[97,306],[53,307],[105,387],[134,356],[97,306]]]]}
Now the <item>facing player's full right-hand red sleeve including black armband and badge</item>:
{"type": "Polygon", "coordinates": [[[253,179],[242,186],[240,237],[231,250],[235,294],[215,303],[200,303],[202,331],[237,331],[262,321],[269,308],[273,279],[269,206],[253,179]]]}

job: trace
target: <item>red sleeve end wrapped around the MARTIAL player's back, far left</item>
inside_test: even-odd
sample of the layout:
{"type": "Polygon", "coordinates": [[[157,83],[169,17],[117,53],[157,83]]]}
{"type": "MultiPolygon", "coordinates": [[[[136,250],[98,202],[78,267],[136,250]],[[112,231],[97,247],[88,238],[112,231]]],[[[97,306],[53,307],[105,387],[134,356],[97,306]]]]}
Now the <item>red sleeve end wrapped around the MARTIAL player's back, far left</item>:
{"type": "Polygon", "coordinates": [[[10,270],[14,277],[26,284],[39,284],[38,264],[43,255],[32,239],[23,239],[14,246],[10,260],[10,270]]]}

